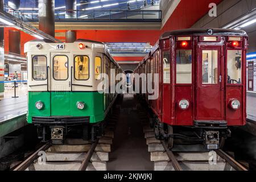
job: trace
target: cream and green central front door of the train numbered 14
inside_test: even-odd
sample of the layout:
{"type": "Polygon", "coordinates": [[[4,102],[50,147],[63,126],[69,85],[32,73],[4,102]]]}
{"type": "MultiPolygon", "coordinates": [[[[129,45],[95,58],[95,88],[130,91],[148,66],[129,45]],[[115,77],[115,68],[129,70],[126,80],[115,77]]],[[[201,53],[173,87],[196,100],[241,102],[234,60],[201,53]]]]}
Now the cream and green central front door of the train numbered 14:
{"type": "Polygon", "coordinates": [[[69,53],[51,53],[49,87],[51,115],[71,115],[71,64],[69,53]]]}

